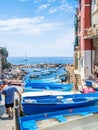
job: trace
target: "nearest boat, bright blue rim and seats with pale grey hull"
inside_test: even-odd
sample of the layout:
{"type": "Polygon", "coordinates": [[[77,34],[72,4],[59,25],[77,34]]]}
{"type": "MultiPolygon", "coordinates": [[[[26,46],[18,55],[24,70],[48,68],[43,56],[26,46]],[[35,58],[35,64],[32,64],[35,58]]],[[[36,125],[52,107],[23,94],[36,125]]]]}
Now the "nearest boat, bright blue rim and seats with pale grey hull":
{"type": "Polygon", "coordinates": [[[20,130],[98,130],[98,107],[76,108],[19,118],[20,130]]]}

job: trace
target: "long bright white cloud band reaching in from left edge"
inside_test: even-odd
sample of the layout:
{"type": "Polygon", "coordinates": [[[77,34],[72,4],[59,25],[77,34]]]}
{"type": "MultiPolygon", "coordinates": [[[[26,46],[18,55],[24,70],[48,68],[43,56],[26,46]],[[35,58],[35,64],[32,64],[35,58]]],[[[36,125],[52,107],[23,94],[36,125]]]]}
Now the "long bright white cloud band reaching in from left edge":
{"type": "Polygon", "coordinates": [[[40,33],[40,31],[42,31],[41,26],[43,27],[43,24],[42,24],[43,20],[44,20],[43,16],[34,17],[32,19],[15,18],[15,19],[9,19],[9,20],[0,20],[0,32],[37,34],[37,33],[40,33]]]}

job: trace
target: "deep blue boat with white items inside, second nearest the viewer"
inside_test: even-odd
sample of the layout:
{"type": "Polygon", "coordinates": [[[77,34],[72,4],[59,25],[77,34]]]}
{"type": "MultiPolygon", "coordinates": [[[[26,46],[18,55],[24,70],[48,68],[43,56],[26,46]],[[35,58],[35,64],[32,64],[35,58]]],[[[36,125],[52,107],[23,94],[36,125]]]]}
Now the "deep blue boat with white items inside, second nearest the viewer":
{"type": "Polygon", "coordinates": [[[98,105],[96,94],[45,95],[22,98],[25,115],[98,105]]]}

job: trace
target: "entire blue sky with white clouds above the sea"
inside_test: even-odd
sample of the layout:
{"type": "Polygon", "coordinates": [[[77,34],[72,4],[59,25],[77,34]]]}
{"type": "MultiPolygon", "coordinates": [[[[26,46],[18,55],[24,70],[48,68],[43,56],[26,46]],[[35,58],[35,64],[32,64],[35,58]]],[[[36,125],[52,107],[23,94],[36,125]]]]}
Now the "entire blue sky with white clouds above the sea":
{"type": "Polygon", "coordinates": [[[76,0],[0,0],[0,46],[12,56],[73,56],[76,0]]]}

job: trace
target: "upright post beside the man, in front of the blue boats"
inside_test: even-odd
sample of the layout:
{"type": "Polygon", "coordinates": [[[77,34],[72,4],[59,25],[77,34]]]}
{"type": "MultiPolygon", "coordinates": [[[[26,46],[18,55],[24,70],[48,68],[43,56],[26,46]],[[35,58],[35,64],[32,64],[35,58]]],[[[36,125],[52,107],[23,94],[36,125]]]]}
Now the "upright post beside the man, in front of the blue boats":
{"type": "Polygon", "coordinates": [[[14,106],[14,130],[19,130],[19,104],[18,99],[15,99],[15,106],[14,106]]]}

